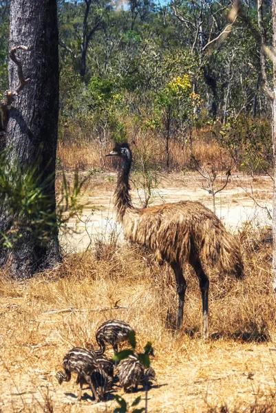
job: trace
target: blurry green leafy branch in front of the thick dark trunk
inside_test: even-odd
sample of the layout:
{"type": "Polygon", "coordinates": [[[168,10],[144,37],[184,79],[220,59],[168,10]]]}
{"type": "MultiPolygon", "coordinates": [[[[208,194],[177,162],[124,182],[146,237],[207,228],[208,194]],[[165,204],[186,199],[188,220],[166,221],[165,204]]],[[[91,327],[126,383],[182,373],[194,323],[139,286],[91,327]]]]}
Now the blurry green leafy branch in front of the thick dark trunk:
{"type": "Polygon", "coordinates": [[[81,210],[78,195],[86,179],[80,181],[76,170],[70,184],[63,174],[61,198],[56,208],[53,180],[54,176],[43,179],[43,172],[39,173],[36,165],[21,168],[18,162],[10,160],[9,151],[1,153],[0,204],[2,213],[13,216],[12,227],[0,234],[1,246],[12,248],[26,233],[39,244],[47,244],[54,229],[65,228],[72,215],[81,210]]]}

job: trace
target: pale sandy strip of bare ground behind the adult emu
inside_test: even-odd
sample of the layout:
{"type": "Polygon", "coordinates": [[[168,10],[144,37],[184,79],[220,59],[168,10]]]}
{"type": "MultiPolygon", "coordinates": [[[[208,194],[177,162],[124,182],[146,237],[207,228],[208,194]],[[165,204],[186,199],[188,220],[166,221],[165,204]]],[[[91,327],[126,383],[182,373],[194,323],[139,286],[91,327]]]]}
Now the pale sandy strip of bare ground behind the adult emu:
{"type": "MultiPolygon", "coordinates": [[[[151,205],[192,200],[200,201],[213,210],[213,198],[203,189],[206,182],[197,175],[178,174],[160,181],[158,189],[153,190],[151,205]]],[[[85,251],[97,240],[105,242],[110,233],[123,241],[123,230],[116,223],[114,212],[116,174],[96,177],[90,183],[90,187],[83,198],[83,213],[78,218],[70,220],[70,233],[61,235],[61,244],[69,253],[85,251]]],[[[270,226],[270,218],[264,207],[272,213],[272,195],[273,182],[267,176],[259,176],[255,180],[246,176],[233,176],[228,186],[215,195],[216,214],[232,232],[238,231],[248,223],[253,229],[270,226]],[[251,187],[256,202],[251,198],[251,187]]],[[[142,189],[131,191],[131,197],[136,207],[142,207],[142,189]]]]}

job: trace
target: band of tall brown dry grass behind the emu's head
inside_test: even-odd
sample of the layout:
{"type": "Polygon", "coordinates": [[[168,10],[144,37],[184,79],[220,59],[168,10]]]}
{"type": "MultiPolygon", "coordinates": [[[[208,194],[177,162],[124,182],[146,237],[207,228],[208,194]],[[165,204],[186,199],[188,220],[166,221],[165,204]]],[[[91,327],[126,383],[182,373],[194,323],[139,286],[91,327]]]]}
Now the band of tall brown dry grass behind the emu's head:
{"type": "MultiPolygon", "coordinates": [[[[59,142],[58,158],[65,169],[78,167],[79,169],[104,169],[110,167],[110,162],[106,162],[105,154],[112,148],[111,142],[100,142],[96,139],[87,139],[83,133],[78,131],[78,139],[59,142]]],[[[152,167],[165,168],[166,150],[165,140],[162,136],[153,133],[136,134],[129,138],[131,147],[134,149],[134,158],[139,158],[141,153],[148,152],[152,167]],[[136,155],[137,154],[137,155],[136,155]]],[[[200,165],[206,165],[217,161],[220,158],[226,162],[227,153],[218,145],[218,143],[206,134],[193,132],[193,156],[200,162],[200,165]]],[[[191,148],[188,142],[174,140],[169,142],[169,162],[170,169],[182,171],[191,167],[191,148]]],[[[227,163],[227,162],[226,162],[227,163]]],[[[229,161],[230,164],[230,161],[229,161]]],[[[116,165],[116,163],[114,163],[116,165]]]]}

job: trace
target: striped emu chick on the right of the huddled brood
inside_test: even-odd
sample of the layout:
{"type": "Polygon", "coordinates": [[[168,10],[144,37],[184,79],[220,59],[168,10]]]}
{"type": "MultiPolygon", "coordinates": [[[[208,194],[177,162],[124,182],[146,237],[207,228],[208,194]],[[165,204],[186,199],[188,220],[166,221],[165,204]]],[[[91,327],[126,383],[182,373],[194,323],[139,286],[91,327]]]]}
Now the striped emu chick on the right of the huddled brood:
{"type": "Polygon", "coordinates": [[[120,361],[117,373],[120,385],[124,388],[125,392],[127,392],[127,388],[131,386],[134,387],[135,391],[137,390],[144,372],[145,368],[135,354],[131,354],[126,359],[120,361]]]}

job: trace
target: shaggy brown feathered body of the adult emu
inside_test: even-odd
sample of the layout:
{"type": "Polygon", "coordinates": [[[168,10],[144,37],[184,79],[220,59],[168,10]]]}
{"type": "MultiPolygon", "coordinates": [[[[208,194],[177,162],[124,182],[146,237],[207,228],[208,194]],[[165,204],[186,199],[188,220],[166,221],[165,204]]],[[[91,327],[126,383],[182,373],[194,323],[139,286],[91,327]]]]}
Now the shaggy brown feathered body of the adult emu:
{"type": "Polygon", "coordinates": [[[144,209],[123,209],[117,202],[118,220],[125,237],[147,246],[167,262],[190,262],[191,255],[224,273],[242,277],[240,246],[217,216],[200,202],[180,201],[144,209]]]}

